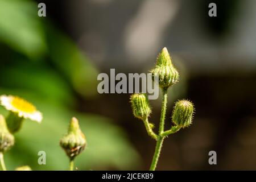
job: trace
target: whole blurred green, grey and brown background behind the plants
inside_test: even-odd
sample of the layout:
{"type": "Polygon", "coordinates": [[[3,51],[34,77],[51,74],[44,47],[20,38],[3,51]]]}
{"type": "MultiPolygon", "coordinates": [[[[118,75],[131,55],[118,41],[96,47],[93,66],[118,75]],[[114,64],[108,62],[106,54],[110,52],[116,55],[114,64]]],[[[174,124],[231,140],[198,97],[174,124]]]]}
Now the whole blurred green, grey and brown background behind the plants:
{"type": "MultiPolygon", "coordinates": [[[[147,73],[167,47],[181,79],[169,93],[166,129],[178,99],[193,101],[196,115],[164,141],[158,169],[255,170],[255,18],[254,0],[0,0],[0,94],[26,98],[44,117],[24,122],[7,167],[68,169],[59,139],[76,116],[88,140],[79,170],[148,169],[154,140],[133,117],[129,94],[97,93],[97,75],[147,73]],[[210,2],[217,17],[208,16],[210,2]],[[208,163],[211,150],[217,165],[208,163]]],[[[158,126],[160,98],[151,105],[158,126]]]]}

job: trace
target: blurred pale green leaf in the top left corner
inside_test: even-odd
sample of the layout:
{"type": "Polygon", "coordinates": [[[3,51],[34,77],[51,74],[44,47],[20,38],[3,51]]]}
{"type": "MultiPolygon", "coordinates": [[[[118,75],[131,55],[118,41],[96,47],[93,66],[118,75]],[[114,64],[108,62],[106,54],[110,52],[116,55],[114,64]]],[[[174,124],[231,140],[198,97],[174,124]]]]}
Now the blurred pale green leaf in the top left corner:
{"type": "Polygon", "coordinates": [[[35,59],[46,52],[42,23],[36,3],[0,0],[0,40],[35,59]]]}

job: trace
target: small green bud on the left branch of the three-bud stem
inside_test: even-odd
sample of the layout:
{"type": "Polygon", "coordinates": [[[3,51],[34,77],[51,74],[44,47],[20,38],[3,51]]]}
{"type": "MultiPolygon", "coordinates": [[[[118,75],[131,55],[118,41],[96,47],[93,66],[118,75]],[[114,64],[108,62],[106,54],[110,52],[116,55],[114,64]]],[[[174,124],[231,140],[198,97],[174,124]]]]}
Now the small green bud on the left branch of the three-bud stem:
{"type": "Polygon", "coordinates": [[[133,114],[139,119],[146,119],[151,113],[150,104],[148,102],[147,94],[135,93],[130,97],[133,114]]]}

